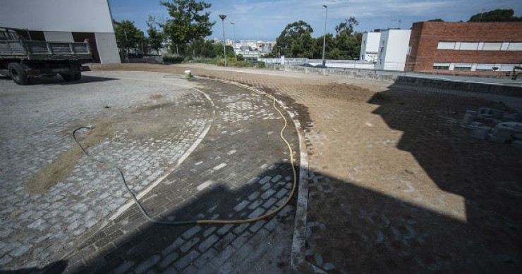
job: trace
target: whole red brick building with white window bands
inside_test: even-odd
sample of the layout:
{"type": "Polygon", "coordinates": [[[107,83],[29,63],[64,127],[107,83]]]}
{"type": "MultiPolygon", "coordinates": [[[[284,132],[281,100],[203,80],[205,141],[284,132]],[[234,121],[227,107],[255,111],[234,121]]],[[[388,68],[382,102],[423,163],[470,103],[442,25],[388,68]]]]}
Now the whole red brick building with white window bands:
{"type": "Polygon", "coordinates": [[[522,22],[413,23],[407,69],[509,75],[522,63],[522,22]]]}

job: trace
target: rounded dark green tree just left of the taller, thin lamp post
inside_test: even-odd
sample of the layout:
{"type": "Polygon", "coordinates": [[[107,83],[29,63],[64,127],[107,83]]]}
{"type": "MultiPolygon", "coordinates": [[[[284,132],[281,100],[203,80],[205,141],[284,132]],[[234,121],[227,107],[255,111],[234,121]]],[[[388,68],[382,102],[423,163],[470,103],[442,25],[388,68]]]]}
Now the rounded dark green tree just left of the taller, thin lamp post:
{"type": "Polygon", "coordinates": [[[278,54],[277,48],[281,47],[281,55],[293,57],[313,56],[312,27],[303,20],[286,25],[281,35],[276,39],[273,54],[278,54]]]}

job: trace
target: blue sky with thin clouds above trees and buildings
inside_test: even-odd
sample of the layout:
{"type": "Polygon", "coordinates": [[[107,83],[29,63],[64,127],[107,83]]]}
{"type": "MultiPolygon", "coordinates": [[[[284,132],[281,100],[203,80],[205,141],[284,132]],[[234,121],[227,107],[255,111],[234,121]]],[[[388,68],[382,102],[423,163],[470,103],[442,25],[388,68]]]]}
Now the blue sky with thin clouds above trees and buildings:
{"type": "MultiPolygon", "coordinates": [[[[166,1],[166,0],[165,0],[166,1]]],[[[200,1],[200,0],[197,0],[200,1]]],[[[313,37],[326,32],[335,33],[335,26],[354,16],[359,25],[356,31],[365,32],[389,27],[409,29],[415,22],[441,18],[444,21],[467,21],[471,15],[497,8],[512,8],[522,16],[522,0],[205,0],[212,4],[210,20],[216,24],[208,38],[223,37],[219,14],[225,14],[226,39],[255,39],[274,41],[289,23],[303,20],[312,26],[313,37]],[[232,25],[231,23],[234,23],[232,25]],[[235,26],[235,27],[234,27],[235,26]],[[235,28],[235,30],[234,30],[235,28]],[[234,33],[235,32],[235,33],[234,33]]],[[[109,0],[115,20],[132,20],[146,35],[147,17],[166,20],[169,13],[159,0],[109,0]]]]}

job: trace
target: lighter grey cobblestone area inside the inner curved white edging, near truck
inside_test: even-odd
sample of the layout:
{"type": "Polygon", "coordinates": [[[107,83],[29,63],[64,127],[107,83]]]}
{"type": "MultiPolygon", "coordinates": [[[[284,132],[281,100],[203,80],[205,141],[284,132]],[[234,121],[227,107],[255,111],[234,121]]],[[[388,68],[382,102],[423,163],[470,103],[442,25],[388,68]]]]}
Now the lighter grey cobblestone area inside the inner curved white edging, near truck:
{"type": "MultiPolygon", "coordinates": [[[[86,76],[78,85],[51,79],[41,85],[0,82],[0,265],[31,268],[61,259],[88,232],[107,225],[128,195],[109,170],[80,158],[72,172],[46,191],[30,192],[27,182],[72,148],[70,132],[100,118],[143,119],[114,124],[114,137],[90,147],[95,156],[119,164],[134,192],[169,174],[212,118],[210,102],[186,87],[86,76]],[[162,114],[154,106],[171,105],[168,135],[145,135],[162,114]],[[145,108],[150,107],[147,111],[145,108]],[[123,129],[125,123],[134,123],[123,129]],[[147,127],[144,125],[147,124],[147,127]]],[[[162,125],[159,125],[162,126],[162,125]]]]}

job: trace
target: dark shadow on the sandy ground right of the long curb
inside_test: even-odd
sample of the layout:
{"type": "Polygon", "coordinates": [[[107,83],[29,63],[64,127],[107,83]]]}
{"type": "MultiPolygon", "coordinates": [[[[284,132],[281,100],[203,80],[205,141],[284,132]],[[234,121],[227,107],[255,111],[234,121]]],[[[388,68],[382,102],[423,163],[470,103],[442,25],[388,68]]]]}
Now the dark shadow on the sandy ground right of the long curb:
{"type": "MultiPolygon", "coordinates": [[[[425,95],[391,89],[368,103],[379,106],[373,113],[391,129],[403,132],[396,147],[415,157],[436,188],[463,199],[465,218],[434,211],[422,197],[415,204],[397,199],[393,189],[402,187],[395,193],[411,192],[412,198],[437,192],[398,183],[382,194],[315,174],[318,184],[311,189],[323,191],[311,199],[320,202],[309,204],[315,212],[308,216],[309,247],[332,260],[332,272],[521,273],[521,151],[473,139],[459,126],[466,108],[487,101],[425,95]],[[340,232],[316,239],[327,234],[322,230],[340,232]]],[[[328,263],[317,254],[308,253],[307,260],[328,263]]]]}

